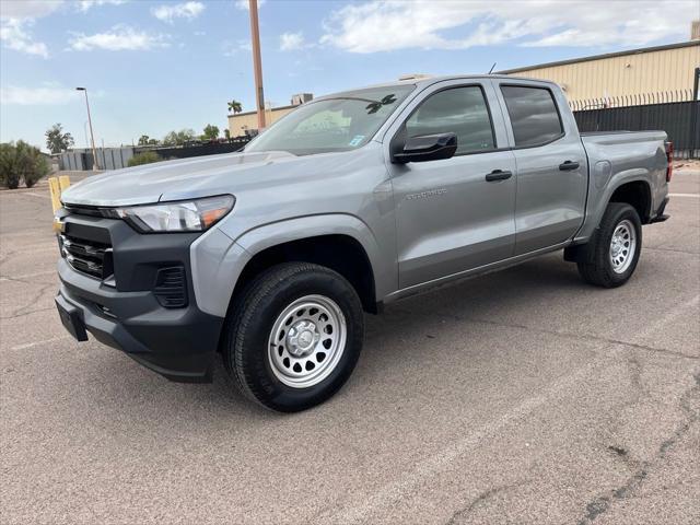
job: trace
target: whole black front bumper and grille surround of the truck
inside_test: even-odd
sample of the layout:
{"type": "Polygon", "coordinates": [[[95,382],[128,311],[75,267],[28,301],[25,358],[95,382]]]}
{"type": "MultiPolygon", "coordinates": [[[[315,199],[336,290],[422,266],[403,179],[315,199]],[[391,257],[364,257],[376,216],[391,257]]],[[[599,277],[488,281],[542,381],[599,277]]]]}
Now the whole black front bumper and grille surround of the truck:
{"type": "Polygon", "coordinates": [[[68,231],[80,232],[90,221],[91,233],[113,242],[114,275],[98,279],[77,271],[61,258],[56,304],[61,320],[78,340],[86,332],[119,349],[171,381],[211,381],[223,318],[201,312],[194,301],[189,245],[191,235],[141,235],[121,221],[67,218],[68,231]],[[128,230],[124,230],[124,229],[128,230]],[[97,230],[102,229],[102,232],[97,230]],[[115,242],[116,241],[116,242],[115,242]],[[159,260],[160,259],[160,260],[159,260]],[[185,306],[166,307],[154,292],[160,267],[182,265],[186,279],[185,306]]]}

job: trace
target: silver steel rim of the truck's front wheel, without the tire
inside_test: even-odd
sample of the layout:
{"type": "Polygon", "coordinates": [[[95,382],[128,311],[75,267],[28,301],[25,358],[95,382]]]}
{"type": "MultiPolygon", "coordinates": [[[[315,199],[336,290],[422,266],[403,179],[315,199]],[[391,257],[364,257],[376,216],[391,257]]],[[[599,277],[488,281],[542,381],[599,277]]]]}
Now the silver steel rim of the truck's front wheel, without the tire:
{"type": "Polygon", "coordinates": [[[272,325],[268,360],[275,376],[308,388],[336,370],[346,347],[346,317],[335,301],[305,295],[287,306],[272,325]]]}

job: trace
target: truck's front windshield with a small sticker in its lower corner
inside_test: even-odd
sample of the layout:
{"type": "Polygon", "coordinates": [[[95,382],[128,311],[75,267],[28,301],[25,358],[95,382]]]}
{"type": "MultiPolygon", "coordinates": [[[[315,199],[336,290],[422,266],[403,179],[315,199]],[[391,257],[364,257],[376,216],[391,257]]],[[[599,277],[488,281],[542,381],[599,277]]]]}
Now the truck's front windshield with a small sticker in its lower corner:
{"type": "Polygon", "coordinates": [[[304,104],[256,137],[245,151],[311,155],[354,150],[374,136],[413,88],[373,88],[304,104]]]}

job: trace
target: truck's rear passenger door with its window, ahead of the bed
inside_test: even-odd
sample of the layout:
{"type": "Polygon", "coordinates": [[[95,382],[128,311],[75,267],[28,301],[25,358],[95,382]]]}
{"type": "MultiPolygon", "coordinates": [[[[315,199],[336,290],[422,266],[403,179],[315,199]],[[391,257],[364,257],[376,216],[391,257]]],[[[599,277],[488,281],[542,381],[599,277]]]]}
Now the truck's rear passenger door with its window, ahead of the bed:
{"type": "Polygon", "coordinates": [[[587,160],[565,98],[535,82],[498,81],[517,164],[515,255],[555,246],[581,228],[587,160]]]}

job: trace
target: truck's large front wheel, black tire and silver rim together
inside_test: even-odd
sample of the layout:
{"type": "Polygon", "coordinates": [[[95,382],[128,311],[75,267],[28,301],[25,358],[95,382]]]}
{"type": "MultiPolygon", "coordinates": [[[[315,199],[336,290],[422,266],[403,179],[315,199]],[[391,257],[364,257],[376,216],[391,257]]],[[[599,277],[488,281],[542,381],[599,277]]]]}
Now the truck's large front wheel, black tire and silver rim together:
{"type": "Polygon", "coordinates": [[[364,318],[358,294],[337,272],[307,262],[276,266],[232,310],[224,364],[241,392],[265,407],[311,408],[352,373],[364,318]]]}

